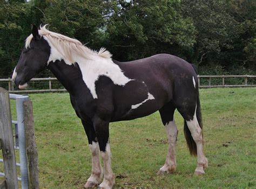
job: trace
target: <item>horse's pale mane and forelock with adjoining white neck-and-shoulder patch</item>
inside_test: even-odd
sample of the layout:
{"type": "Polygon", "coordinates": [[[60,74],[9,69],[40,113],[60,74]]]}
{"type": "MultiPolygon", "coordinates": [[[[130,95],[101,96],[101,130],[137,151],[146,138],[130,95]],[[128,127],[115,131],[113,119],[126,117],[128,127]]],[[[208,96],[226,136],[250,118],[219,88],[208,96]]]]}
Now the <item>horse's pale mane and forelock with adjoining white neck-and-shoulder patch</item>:
{"type": "MultiPolygon", "coordinates": [[[[41,27],[39,34],[49,43],[51,53],[49,62],[64,60],[68,65],[77,63],[82,72],[83,81],[89,88],[93,99],[97,99],[95,82],[100,75],[110,78],[114,85],[125,86],[132,79],[127,78],[122,69],[111,59],[111,54],[105,48],[95,52],[85,47],[76,39],[72,39],[62,34],[51,32],[41,27]],[[66,44],[65,44],[66,43],[66,44]]],[[[32,34],[26,39],[26,47],[29,47],[32,34]]]]}

